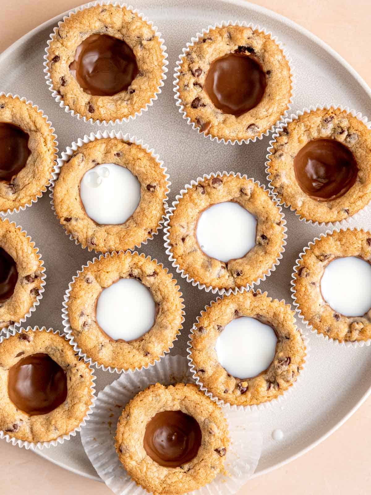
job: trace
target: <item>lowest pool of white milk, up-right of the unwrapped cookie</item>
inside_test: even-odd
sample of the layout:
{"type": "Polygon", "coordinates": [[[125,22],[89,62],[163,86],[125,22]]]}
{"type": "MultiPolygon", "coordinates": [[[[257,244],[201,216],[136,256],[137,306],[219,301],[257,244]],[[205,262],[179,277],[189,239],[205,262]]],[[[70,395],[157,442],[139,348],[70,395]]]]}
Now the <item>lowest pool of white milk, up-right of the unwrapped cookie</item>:
{"type": "Polygon", "coordinates": [[[215,350],[223,368],[236,378],[253,378],[265,371],[276,353],[277,336],[255,318],[235,318],[218,337],[215,350]]]}

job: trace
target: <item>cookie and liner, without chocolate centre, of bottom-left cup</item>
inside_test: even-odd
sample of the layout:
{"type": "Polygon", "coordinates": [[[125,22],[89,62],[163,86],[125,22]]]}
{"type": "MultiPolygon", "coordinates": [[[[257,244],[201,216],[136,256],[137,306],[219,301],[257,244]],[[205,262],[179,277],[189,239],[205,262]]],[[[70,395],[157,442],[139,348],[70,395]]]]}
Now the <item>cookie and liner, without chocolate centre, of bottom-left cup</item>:
{"type": "Polygon", "coordinates": [[[0,337],[0,359],[0,384],[3,389],[1,391],[3,415],[0,417],[1,422],[9,423],[8,426],[0,429],[1,439],[19,447],[34,449],[63,444],[65,440],[69,440],[81,431],[93,412],[96,398],[95,375],[93,367],[84,361],[79,361],[72,347],[59,331],[52,328],[46,330],[46,327],[27,327],[7,332],[5,336],[0,337]],[[18,410],[7,396],[6,374],[7,367],[38,352],[49,354],[64,369],[69,378],[67,380],[69,387],[66,400],[56,409],[47,414],[29,416],[18,410]],[[60,430],[64,430],[63,434],[57,435],[60,430]],[[44,436],[48,435],[50,440],[37,440],[42,436],[43,431],[48,432],[44,436]],[[29,441],[32,440],[30,436],[33,436],[35,441],[29,441]]]}

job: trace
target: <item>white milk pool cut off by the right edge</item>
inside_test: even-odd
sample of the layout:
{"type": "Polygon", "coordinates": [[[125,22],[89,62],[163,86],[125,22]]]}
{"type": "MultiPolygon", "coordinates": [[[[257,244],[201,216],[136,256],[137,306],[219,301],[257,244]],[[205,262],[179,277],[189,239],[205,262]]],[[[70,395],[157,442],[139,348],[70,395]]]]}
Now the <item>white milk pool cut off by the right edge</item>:
{"type": "Polygon", "coordinates": [[[371,264],[356,256],[335,258],[321,279],[322,297],[344,316],[363,316],[371,308],[371,264]]]}

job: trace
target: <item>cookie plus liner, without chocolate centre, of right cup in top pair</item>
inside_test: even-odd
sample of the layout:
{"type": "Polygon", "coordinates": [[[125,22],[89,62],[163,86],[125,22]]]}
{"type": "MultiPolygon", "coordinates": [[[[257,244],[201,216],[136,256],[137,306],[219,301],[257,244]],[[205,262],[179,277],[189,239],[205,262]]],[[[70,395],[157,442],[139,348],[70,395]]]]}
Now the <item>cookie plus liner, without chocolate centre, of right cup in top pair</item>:
{"type": "MultiPolygon", "coordinates": [[[[263,49],[261,53],[262,55],[266,54],[263,49]]],[[[196,34],[195,38],[191,38],[190,43],[186,44],[175,68],[173,84],[176,104],[183,118],[192,125],[192,129],[198,130],[199,134],[209,137],[211,141],[216,140],[217,143],[231,143],[233,145],[238,143],[240,145],[250,141],[255,142],[257,139],[262,139],[263,136],[268,136],[270,132],[274,132],[275,127],[278,127],[279,122],[288,115],[288,111],[291,109],[294,83],[291,59],[276,36],[273,36],[265,28],[252,23],[223,21],[203,29],[201,33],[196,34]],[[246,36],[242,36],[242,28],[247,30],[246,36]],[[234,30],[238,30],[238,32],[233,36],[234,30]],[[214,40],[213,35],[217,36],[218,40],[214,40]],[[226,48],[222,49],[218,46],[218,51],[215,53],[212,47],[215,46],[216,41],[218,44],[223,43],[224,36],[227,40],[226,48]],[[235,38],[234,41],[233,38],[235,38]],[[193,51],[197,50],[197,45],[201,44],[205,47],[202,49],[205,53],[203,53],[202,59],[198,60],[198,57],[196,59],[193,57],[193,51]],[[231,49],[231,44],[233,49],[231,49]],[[241,44],[248,46],[241,46],[241,44]],[[274,53],[269,57],[269,60],[265,57],[263,60],[259,53],[262,45],[267,46],[267,44],[270,46],[270,51],[274,53]],[[263,69],[268,71],[268,84],[263,99],[256,107],[238,117],[222,113],[214,106],[203,90],[203,83],[210,62],[219,56],[232,53],[234,49],[237,52],[241,52],[242,49],[242,51],[256,55],[263,64],[263,69]],[[187,64],[186,70],[185,63],[187,64]],[[282,84],[282,73],[287,76],[287,84],[282,84]],[[277,92],[278,89],[278,97],[268,97],[269,93],[277,92]],[[198,103],[196,104],[194,101],[198,103]],[[212,114],[212,110],[215,110],[214,114],[212,114]],[[210,120],[209,117],[213,118],[210,120]]]]}

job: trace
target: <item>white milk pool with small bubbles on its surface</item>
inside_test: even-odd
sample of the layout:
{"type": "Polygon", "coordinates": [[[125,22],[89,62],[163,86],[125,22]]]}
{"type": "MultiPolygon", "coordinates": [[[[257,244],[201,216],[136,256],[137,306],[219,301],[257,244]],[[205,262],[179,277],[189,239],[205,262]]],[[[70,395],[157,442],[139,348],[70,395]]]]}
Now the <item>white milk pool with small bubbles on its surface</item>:
{"type": "Polygon", "coordinates": [[[102,163],[88,170],[80,183],[87,215],[100,225],[118,225],[132,216],[140,201],[140,184],[130,170],[102,163]]]}

